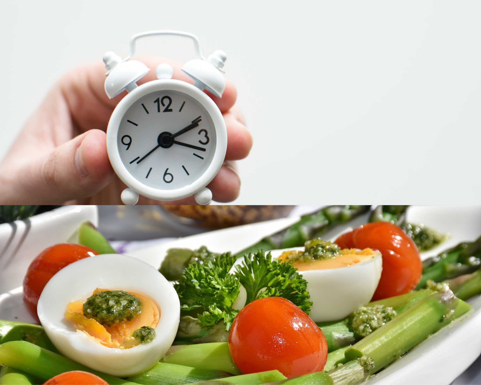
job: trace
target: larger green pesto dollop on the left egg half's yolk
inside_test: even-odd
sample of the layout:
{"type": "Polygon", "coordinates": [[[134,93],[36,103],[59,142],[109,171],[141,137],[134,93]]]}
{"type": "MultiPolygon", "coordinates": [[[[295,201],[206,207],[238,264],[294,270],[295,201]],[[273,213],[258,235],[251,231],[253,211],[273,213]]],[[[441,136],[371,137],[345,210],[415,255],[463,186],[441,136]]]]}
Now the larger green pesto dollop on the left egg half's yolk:
{"type": "Polygon", "coordinates": [[[87,298],[83,305],[84,316],[102,325],[112,326],[130,321],[142,312],[140,299],[122,290],[108,290],[87,298]]]}

